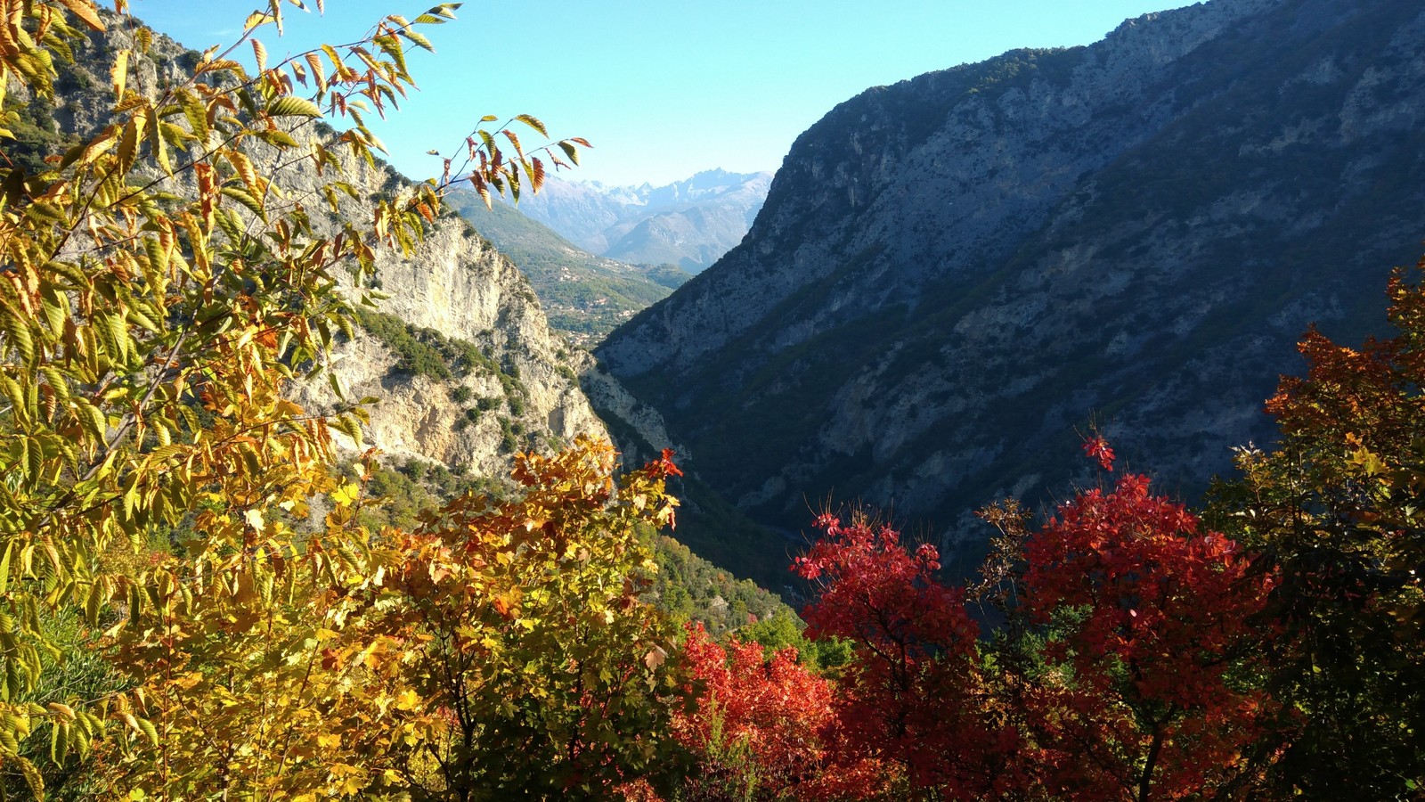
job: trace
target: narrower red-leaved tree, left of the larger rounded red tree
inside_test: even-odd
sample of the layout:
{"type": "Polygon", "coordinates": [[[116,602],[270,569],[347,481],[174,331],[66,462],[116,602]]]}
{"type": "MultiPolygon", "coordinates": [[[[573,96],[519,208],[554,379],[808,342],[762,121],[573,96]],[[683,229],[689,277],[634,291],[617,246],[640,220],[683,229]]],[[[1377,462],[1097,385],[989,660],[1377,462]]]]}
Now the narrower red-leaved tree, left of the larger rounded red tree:
{"type": "Polygon", "coordinates": [[[1003,792],[1017,734],[993,715],[979,628],[965,591],[935,579],[935,547],[908,551],[895,529],[865,519],[822,515],[818,527],[825,537],[794,565],[821,585],[808,634],[848,639],[856,655],[834,701],[824,793],[1003,792]]]}

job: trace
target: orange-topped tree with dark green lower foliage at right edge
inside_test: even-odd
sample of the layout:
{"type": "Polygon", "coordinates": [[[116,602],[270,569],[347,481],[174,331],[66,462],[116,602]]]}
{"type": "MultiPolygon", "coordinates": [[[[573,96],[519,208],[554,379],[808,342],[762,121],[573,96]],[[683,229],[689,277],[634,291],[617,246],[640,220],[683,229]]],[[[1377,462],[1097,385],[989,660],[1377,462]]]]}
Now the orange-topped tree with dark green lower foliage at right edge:
{"type": "Polygon", "coordinates": [[[1416,796],[1425,788],[1425,287],[1389,283],[1398,331],[1361,348],[1315,328],[1304,377],[1267,410],[1280,440],[1243,448],[1208,515],[1280,575],[1270,612],[1271,691],[1290,712],[1260,749],[1280,752],[1282,795],[1416,796]]]}

